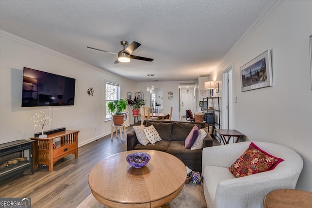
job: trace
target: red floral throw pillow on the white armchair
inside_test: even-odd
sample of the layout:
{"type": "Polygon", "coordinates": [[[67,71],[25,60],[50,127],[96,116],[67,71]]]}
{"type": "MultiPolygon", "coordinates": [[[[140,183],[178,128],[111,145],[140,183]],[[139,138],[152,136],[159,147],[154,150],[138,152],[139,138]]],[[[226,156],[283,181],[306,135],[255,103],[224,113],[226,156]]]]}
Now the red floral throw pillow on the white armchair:
{"type": "Polygon", "coordinates": [[[273,170],[282,161],[284,160],[261,150],[252,142],[249,148],[234,162],[229,170],[236,178],[239,178],[273,170]]]}

